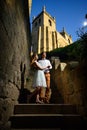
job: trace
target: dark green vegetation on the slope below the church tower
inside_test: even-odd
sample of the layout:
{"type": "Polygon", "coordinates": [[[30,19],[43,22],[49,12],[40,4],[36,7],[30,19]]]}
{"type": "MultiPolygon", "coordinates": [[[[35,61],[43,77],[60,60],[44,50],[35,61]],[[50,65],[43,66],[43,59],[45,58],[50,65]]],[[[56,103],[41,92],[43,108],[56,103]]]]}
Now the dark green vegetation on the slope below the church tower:
{"type": "Polygon", "coordinates": [[[80,40],[66,47],[57,48],[47,53],[48,57],[57,56],[61,61],[87,59],[87,33],[80,40]]]}

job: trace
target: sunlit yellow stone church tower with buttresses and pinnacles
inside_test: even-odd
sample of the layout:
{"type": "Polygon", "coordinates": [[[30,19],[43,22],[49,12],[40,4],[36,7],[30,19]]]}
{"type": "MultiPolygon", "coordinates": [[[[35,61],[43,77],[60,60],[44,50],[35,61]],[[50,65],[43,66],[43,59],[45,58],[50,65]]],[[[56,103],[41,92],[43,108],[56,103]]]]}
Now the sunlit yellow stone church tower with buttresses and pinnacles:
{"type": "Polygon", "coordinates": [[[40,54],[42,51],[49,52],[53,49],[67,46],[72,43],[72,37],[62,30],[56,30],[56,20],[46,12],[42,12],[32,20],[32,52],[40,54]]]}

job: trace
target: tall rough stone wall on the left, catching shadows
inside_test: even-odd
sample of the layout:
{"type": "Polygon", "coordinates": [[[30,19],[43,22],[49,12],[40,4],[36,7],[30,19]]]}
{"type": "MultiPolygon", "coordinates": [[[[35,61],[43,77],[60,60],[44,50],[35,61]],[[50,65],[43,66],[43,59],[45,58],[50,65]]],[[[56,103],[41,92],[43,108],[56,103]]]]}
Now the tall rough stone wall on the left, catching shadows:
{"type": "MultiPolygon", "coordinates": [[[[27,0],[0,0],[0,125],[13,113],[29,74],[27,0]]],[[[0,127],[1,128],[1,127],[0,127]]]]}

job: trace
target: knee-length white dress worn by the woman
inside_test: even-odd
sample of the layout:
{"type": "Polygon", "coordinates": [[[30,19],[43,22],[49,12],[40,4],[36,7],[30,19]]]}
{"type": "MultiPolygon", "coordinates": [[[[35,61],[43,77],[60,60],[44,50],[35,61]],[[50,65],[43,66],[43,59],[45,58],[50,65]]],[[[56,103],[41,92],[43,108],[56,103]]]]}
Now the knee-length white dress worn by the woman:
{"type": "MultiPolygon", "coordinates": [[[[38,66],[41,66],[40,63],[35,61],[38,66]]],[[[33,79],[33,87],[47,87],[46,79],[43,70],[36,69],[34,72],[34,79],[33,79]]]]}

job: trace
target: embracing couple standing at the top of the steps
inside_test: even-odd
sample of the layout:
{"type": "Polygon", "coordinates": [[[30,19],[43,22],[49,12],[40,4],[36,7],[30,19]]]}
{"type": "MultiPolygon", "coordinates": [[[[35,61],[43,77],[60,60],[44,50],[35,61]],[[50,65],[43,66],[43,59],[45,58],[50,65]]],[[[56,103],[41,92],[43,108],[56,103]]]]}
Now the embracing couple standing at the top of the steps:
{"type": "Polygon", "coordinates": [[[33,54],[31,66],[35,70],[33,87],[37,89],[36,103],[49,103],[46,99],[48,91],[50,91],[50,69],[52,65],[46,59],[46,53],[42,52],[42,59],[38,61],[38,55],[33,54]]]}

